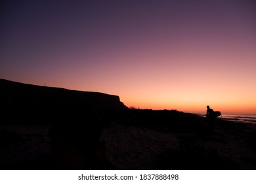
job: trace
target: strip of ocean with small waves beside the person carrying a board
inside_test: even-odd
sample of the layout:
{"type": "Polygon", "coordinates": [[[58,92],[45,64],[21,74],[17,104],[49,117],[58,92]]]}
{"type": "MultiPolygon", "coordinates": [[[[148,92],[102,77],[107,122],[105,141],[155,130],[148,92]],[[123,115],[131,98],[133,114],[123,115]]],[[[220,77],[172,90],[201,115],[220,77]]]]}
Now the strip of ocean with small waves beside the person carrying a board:
{"type": "MultiPolygon", "coordinates": [[[[200,114],[205,117],[205,114],[200,114]]],[[[256,114],[222,114],[219,119],[230,122],[242,122],[249,124],[256,124],[256,114]]]]}

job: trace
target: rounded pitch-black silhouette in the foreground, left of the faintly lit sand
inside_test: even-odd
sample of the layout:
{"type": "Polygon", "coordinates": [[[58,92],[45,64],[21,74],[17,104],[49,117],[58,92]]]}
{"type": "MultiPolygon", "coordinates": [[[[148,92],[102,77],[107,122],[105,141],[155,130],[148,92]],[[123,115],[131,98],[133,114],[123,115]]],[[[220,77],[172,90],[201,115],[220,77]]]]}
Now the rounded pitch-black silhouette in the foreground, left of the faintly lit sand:
{"type": "Polygon", "coordinates": [[[77,107],[63,114],[49,130],[53,169],[109,169],[95,110],[77,107]]]}

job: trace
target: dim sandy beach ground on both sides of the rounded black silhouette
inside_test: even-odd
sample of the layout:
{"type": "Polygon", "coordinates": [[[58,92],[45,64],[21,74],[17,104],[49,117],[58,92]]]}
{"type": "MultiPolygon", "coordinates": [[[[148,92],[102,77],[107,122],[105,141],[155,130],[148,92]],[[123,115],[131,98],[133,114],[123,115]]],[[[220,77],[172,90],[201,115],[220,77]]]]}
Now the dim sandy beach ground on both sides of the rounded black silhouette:
{"type": "MultiPolygon", "coordinates": [[[[139,111],[122,120],[113,119],[102,129],[100,141],[106,144],[106,158],[112,168],[256,169],[254,124],[223,120],[208,124],[196,116],[200,128],[195,131],[185,126],[168,127],[160,121],[154,125],[133,123],[140,117],[139,111]]],[[[51,169],[49,159],[45,161],[49,156],[49,127],[1,125],[1,169],[51,169]]]]}

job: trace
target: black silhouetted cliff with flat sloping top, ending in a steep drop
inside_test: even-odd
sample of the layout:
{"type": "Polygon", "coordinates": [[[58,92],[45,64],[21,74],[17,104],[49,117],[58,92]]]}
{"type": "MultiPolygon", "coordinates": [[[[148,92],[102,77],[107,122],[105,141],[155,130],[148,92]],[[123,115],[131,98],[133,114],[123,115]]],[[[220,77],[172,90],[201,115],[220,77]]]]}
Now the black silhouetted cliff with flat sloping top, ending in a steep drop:
{"type": "MultiPolygon", "coordinates": [[[[86,118],[86,110],[122,110],[127,108],[117,95],[81,92],[22,84],[0,79],[0,105],[5,123],[52,123],[86,118]]],[[[3,123],[3,122],[1,122],[3,123]]]]}

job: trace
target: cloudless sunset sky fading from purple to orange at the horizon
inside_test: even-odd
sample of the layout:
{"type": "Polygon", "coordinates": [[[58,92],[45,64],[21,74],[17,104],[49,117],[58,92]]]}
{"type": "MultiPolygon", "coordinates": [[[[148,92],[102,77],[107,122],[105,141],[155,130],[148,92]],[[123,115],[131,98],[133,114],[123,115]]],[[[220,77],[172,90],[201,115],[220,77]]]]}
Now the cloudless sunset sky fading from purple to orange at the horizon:
{"type": "Polygon", "coordinates": [[[2,2],[0,78],[256,114],[253,0],[2,2]]]}

